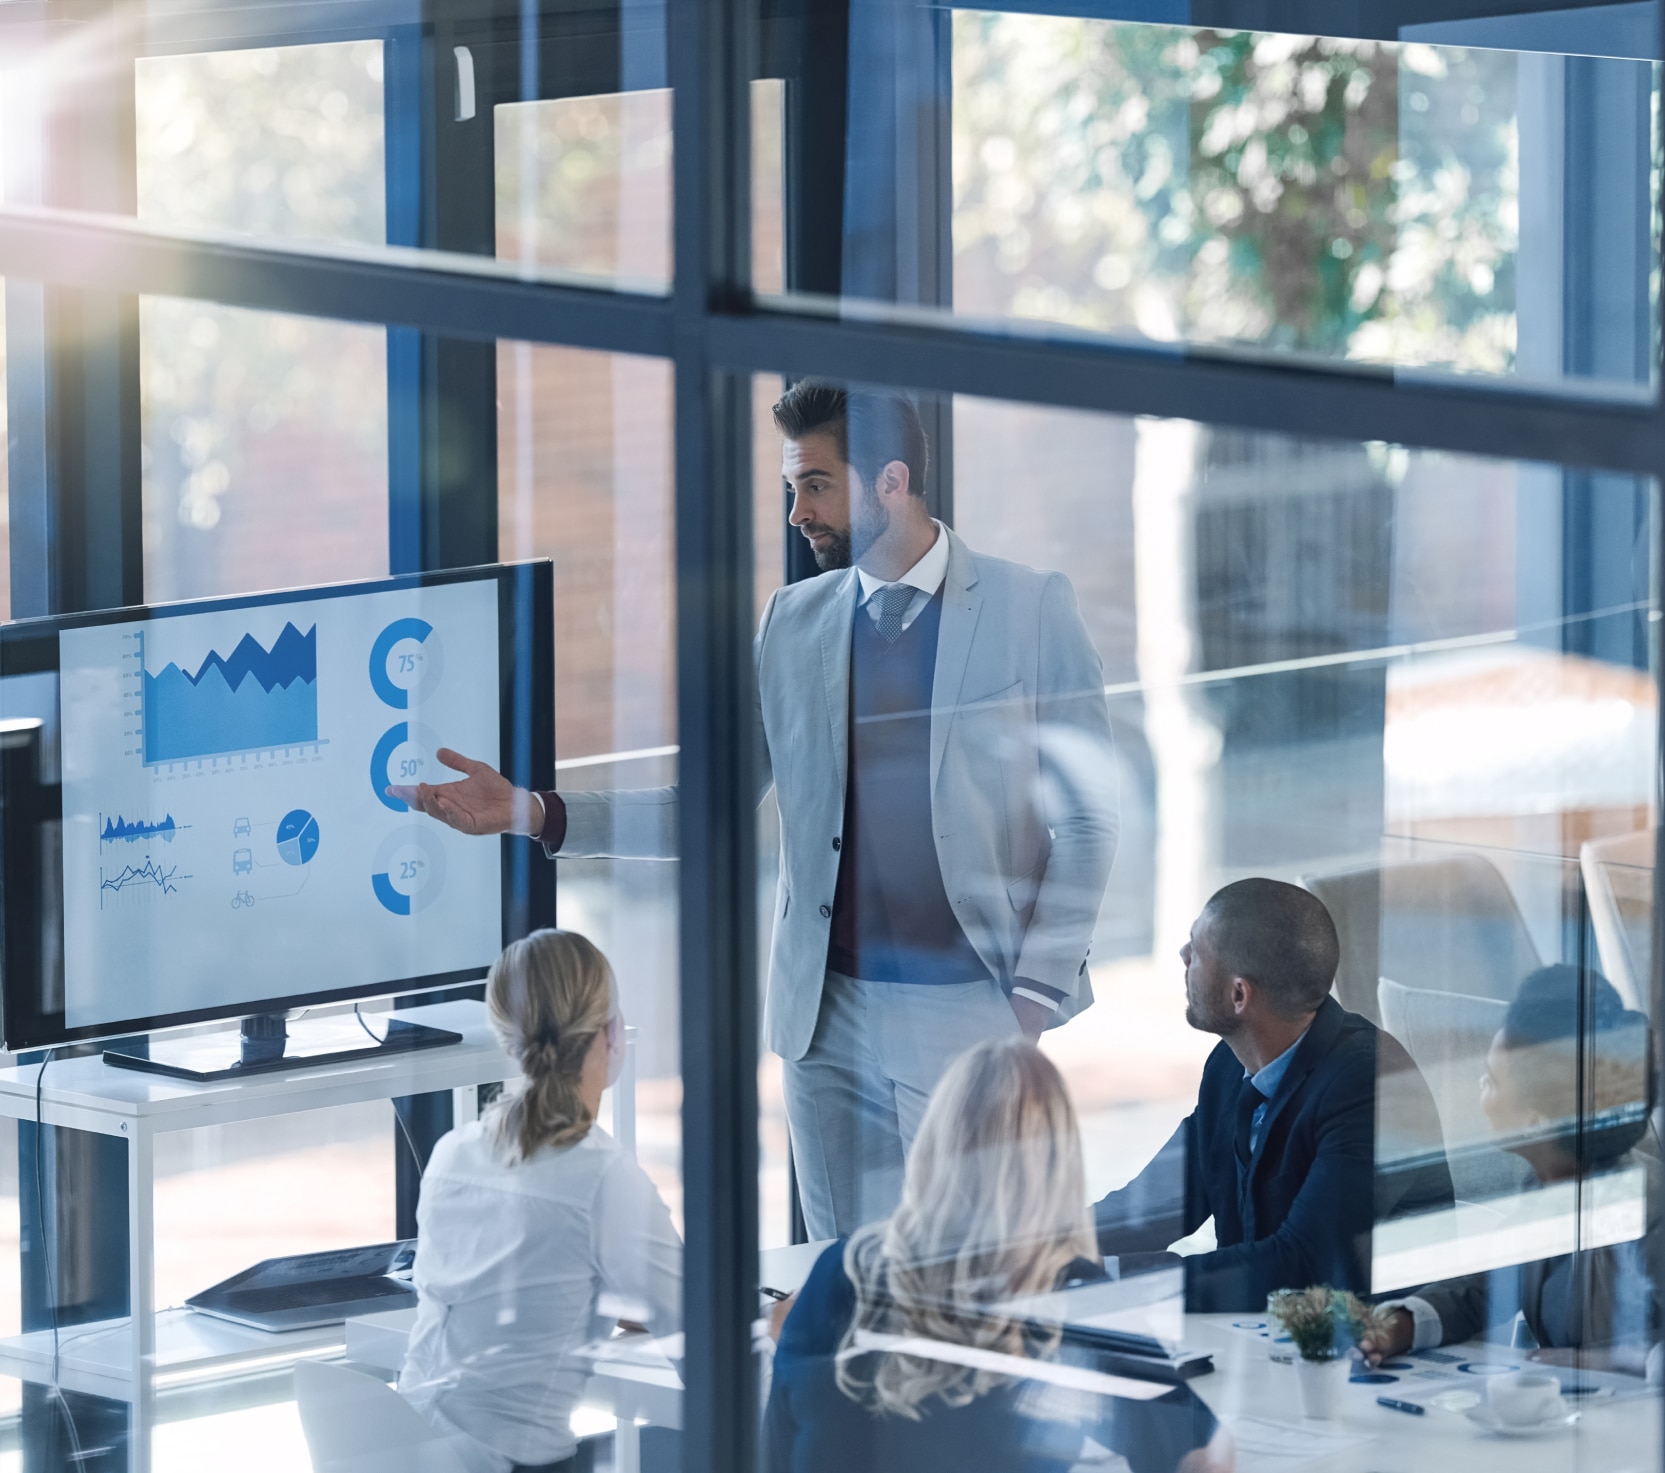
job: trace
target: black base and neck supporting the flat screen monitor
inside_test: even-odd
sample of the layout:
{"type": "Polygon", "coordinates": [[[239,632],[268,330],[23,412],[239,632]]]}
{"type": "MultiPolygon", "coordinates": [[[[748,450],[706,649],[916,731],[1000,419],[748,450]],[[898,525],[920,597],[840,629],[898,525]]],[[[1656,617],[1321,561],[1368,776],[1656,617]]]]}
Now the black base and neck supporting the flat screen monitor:
{"type": "Polygon", "coordinates": [[[461,1044],[463,1035],[385,1014],[376,1020],[350,1015],[288,1022],[280,1012],[261,1012],[243,1019],[236,1034],[152,1039],[142,1049],[132,1047],[132,1042],[123,1039],[105,1049],[105,1064],[171,1079],[211,1080],[440,1049],[461,1044]]]}

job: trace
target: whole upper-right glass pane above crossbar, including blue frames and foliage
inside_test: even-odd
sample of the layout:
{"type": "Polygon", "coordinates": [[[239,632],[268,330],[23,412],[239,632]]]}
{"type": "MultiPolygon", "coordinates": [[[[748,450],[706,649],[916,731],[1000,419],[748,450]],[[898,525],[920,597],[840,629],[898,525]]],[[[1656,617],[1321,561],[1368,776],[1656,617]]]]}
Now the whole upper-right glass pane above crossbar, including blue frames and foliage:
{"type": "MultiPolygon", "coordinates": [[[[788,290],[1648,389],[1655,7],[1360,23],[857,7],[788,290]]],[[[828,37],[781,35],[801,95],[831,87],[828,37]]]]}

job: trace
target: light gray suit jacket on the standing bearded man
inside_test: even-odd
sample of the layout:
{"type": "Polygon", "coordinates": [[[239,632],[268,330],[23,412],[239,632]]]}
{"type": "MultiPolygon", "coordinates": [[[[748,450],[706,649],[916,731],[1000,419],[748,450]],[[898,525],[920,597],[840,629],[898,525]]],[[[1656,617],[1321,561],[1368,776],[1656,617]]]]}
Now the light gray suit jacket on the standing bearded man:
{"type": "MultiPolygon", "coordinates": [[[[1104,672],[1061,573],[949,536],[931,699],[931,814],[942,885],[977,955],[1092,1002],[1087,950],[1116,856],[1104,672]]],[[[774,786],[781,880],[764,1030],[803,1059],[821,1012],[849,764],[854,569],[776,589],[758,664],[758,797],[774,786]]],[[[566,856],[674,859],[674,787],[561,794],[566,856]]]]}

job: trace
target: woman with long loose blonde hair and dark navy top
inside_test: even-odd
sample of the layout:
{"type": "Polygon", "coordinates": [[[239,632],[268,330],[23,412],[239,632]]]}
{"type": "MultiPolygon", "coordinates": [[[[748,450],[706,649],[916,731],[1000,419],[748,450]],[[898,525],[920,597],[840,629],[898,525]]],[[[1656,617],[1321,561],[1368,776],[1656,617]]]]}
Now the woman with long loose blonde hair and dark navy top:
{"type": "Polygon", "coordinates": [[[828,1248],[786,1317],[768,1466],[1062,1473],[1089,1433],[1134,1473],[1210,1466],[1189,1390],[1106,1406],[1022,1376],[1057,1335],[1021,1302],[1082,1277],[1102,1267],[1064,1080],[1027,1040],[979,1044],[931,1095],[901,1205],[828,1248]]]}

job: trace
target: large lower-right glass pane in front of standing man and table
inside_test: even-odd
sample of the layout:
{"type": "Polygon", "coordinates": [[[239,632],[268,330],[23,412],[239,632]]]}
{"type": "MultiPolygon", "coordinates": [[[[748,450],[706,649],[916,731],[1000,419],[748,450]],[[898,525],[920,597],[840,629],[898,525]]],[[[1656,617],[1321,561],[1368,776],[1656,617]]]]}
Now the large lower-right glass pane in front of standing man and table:
{"type": "Polygon", "coordinates": [[[1179,1451],[1219,1423],[1249,1466],[1337,1456],[1260,1333],[1270,1293],[1325,1285],[1379,1302],[1392,1351],[1335,1388],[1342,1441],[1395,1446],[1387,1395],[1462,1455],[1454,1413],[1507,1401],[1475,1381],[1522,1370],[1598,1398],[1543,1466],[1652,1438],[1655,484],[959,398],[949,486],[891,391],[852,391],[842,438],[814,393],[758,451],[759,488],[851,538],[816,538],[759,654],[759,1195],[793,1190],[789,1137],[813,1240],[766,1218],[763,1282],[826,1253],[774,1355],[769,1466],[906,1446],[916,1403],[991,1466],[1039,1440],[1152,1456],[1137,1383],[1052,1396],[1059,1363],[1107,1363],[1076,1330],[1001,1342],[1014,1303],[1212,1355],[1179,1451]],[[794,950],[806,889],[824,967],[794,950]],[[1026,1019],[1056,1075],[1021,1062],[1026,1019]],[[1077,1255],[1111,1280],[1026,1297],[1091,1278],[1077,1255]],[[966,1375],[996,1343],[1022,1390],[966,1375]]]}

